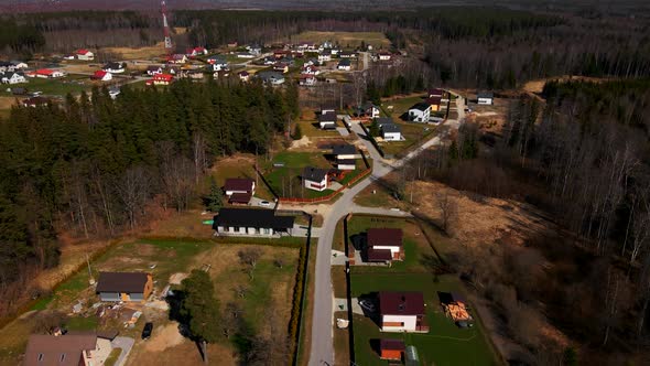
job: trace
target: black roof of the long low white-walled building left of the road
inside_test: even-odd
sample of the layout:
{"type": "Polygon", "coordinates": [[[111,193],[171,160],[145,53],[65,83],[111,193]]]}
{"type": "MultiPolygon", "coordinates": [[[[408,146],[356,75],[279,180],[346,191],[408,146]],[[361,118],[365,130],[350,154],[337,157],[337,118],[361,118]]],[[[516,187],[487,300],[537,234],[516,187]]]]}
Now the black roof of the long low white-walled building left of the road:
{"type": "Polygon", "coordinates": [[[273,209],[221,208],[214,218],[213,227],[246,226],[288,229],[293,227],[294,219],[294,216],[275,216],[273,209]]]}

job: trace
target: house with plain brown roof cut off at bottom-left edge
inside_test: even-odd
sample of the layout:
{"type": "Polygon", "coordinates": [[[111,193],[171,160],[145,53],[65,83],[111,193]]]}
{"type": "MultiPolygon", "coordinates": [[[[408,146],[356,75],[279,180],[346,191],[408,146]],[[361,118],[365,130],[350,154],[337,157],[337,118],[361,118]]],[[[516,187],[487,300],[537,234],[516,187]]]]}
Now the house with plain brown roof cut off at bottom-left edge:
{"type": "MultiPolygon", "coordinates": [[[[110,348],[110,342],[106,347],[110,348]]],[[[100,365],[99,359],[97,359],[99,351],[100,346],[97,335],[93,333],[67,335],[32,334],[28,341],[28,348],[22,365],[100,365]]],[[[108,355],[110,349],[105,353],[108,355]]]]}

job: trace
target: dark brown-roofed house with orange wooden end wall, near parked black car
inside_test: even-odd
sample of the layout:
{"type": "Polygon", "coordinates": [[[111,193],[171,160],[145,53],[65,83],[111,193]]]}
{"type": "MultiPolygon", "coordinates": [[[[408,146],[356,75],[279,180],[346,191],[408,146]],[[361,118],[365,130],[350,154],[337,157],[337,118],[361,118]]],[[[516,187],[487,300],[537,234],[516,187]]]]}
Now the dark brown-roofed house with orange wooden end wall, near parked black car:
{"type": "Polygon", "coordinates": [[[153,277],[144,272],[101,272],[95,292],[101,301],[145,301],[153,277]]]}

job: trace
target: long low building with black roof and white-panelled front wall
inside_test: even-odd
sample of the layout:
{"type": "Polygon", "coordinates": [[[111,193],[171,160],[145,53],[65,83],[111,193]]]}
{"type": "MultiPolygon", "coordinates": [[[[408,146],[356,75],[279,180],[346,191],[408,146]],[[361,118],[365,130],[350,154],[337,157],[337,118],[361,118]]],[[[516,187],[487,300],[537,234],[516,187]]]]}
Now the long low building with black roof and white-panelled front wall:
{"type": "Polygon", "coordinates": [[[221,208],[214,217],[218,235],[291,235],[294,216],[278,216],[273,209],[221,208]]]}

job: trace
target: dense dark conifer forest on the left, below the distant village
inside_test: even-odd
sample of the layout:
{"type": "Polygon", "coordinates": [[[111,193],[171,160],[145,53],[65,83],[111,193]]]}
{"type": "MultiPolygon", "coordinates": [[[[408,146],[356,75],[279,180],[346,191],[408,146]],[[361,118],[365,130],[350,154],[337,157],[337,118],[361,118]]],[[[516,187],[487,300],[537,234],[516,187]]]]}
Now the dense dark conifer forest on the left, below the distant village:
{"type": "Polygon", "coordinates": [[[0,125],[2,298],[20,299],[30,270],[57,263],[54,227],[109,236],[142,224],[154,198],[185,209],[213,157],[263,153],[295,105],[292,93],[210,80],[12,109],[0,125]]]}

